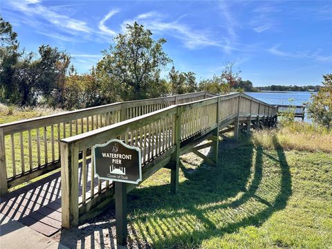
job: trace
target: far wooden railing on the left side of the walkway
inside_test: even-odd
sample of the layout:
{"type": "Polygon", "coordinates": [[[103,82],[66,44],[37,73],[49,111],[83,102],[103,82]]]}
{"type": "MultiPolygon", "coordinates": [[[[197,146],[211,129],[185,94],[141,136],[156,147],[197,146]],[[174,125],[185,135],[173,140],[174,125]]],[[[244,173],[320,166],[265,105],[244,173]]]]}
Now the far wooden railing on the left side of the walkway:
{"type": "Polygon", "coordinates": [[[106,104],[40,118],[0,124],[0,194],[8,188],[57,169],[62,138],[107,127],[172,104],[210,98],[211,93],[106,104]]]}

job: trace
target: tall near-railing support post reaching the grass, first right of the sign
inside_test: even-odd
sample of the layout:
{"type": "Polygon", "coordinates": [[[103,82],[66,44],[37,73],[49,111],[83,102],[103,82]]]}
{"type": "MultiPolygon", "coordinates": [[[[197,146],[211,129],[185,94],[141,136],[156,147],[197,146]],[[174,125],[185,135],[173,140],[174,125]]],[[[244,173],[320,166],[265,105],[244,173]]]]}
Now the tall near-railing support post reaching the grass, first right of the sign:
{"type": "Polygon", "coordinates": [[[181,113],[182,107],[176,107],[176,118],[175,118],[175,146],[176,151],[171,156],[172,162],[174,165],[171,169],[171,192],[176,194],[178,192],[178,171],[180,168],[180,144],[181,144],[181,113]]]}

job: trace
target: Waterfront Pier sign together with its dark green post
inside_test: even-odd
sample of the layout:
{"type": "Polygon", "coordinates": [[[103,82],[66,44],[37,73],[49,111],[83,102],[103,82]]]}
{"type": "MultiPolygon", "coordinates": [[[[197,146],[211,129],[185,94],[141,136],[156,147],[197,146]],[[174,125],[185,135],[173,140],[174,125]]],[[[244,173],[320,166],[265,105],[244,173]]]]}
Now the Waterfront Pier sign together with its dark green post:
{"type": "Polygon", "coordinates": [[[95,175],[113,181],[116,190],[116,241],[127,243],[127,183],[142,181],[140,149],[118,139],[93,146],[95,175]]]}

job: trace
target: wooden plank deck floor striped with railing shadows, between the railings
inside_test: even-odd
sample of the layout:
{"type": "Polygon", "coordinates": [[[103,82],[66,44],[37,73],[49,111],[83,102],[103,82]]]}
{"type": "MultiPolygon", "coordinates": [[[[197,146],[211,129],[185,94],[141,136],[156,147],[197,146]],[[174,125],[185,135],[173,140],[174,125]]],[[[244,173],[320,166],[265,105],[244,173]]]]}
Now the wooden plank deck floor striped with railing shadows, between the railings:
{"type": "MultiPolygon", "coordinates": [[[[156,145],[158,144],[156,143],[156,136],[151,139],[152,142],[154,143],[154,151],[151,151],[151,153],[156,154],[156,145]]],[[[138,144],[140,144],[139,140],[138,144]]],[[[160,144],[163,144],[163,141],[160,144]]],[[[146,151],[142,157],[146,158],[148,153],[146,151]]],[[[81,200],[83,175],[82,163],[80,163],[79,198],[81,200]]],[[[91,179],[91,159],[86,160],[86,176],[91,179]]],[[[88,181],[88,184],[86,184],[86,199],[91,197],[91,186],[91,181],[88,181]]],[[[112,187],[112,185],[106,186],[106,181],[99,185],[98,178],[93,178],[93,193],[98,193],[100,188],[104,189],[105,187],[112,187]]],[[[6,196],[1,196],[0,212],[48,237],[55,234],[62,227],[61,173],[51,174],[46,178],[14,190],[6,196]]]]}

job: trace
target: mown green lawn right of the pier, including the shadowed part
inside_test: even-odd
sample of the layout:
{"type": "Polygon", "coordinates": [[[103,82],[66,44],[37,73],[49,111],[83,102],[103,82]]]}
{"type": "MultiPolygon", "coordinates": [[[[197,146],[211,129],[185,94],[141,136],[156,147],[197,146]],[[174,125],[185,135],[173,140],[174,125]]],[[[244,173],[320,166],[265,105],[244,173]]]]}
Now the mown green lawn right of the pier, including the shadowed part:
{"type": "MultiPolygon", "coordinates": [[[[332,157],[221,147],[218,167],[182,157],[179,192],[161,169],[129,194],[129,241],[153,248],[332,248],[332,157]]],[[[130,243],[130,242],[129,242],[130,243]]]]}

